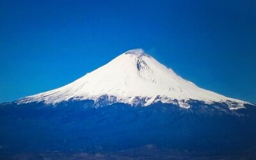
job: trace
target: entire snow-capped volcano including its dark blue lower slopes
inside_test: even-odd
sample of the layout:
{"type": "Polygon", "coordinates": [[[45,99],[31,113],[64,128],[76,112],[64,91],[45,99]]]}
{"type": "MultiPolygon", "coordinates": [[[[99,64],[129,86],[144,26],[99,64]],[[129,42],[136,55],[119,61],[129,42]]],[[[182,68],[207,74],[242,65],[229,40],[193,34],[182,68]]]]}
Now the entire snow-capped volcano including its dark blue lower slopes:
{"type": "Polygon", "coordinates": [[[255,135],[255,105],[202,89],[142,49],[0,104],[2,159],[255,159],[255,135]]]}

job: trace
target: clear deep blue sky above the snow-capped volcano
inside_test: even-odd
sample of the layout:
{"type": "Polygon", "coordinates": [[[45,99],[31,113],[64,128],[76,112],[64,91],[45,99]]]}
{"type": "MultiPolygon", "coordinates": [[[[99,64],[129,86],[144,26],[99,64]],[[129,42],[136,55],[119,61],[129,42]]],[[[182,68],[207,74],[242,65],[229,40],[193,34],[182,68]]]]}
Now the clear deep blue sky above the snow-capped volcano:
{"type": "Polygon", "coordinates": [[[256,103],[255,8],[254,0],[0,0],[0,102],[143,48],[200,87],[256,103]]]}

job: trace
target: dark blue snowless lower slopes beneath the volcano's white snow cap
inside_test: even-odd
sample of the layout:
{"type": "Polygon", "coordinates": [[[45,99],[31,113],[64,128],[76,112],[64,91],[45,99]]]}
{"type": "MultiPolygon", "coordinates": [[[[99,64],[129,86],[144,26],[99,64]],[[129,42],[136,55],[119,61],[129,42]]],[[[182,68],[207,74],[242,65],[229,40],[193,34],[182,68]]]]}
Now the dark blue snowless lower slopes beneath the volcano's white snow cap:
{"type": "Polygon", "coordinates": [[[54,106],[1,104],[0,154],[255,157],[255,106],[228,110],[221,103],[190,105],[116,103],[95,108],[89,100],[54,106]]]}

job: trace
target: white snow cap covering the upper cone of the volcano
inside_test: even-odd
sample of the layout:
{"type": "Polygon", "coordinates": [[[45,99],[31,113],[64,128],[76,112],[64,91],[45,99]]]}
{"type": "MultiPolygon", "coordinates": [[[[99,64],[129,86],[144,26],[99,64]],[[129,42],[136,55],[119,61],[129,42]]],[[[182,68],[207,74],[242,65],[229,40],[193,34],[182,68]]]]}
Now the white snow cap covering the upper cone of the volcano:
{"type": "Polygon", "coordinates": [[[231,109],[243,108],[244,101],[227,98],[202,89],[184,80],[172,69],[166,68],[142,49],[128,50],[104,66],[87,73],[76,81],[34,96],[20,99],[19,103],[45,101],[58,103],[68,99],[93,99],[107,95],[110,101],[136,105],[138,99],[147,106],[157,101],[174,103],[189,108],[189,99],[205,103],[228,103],[231,109]],[[232,105],[233,103],[236,105],[232,105]]]}

